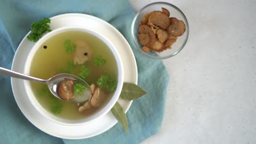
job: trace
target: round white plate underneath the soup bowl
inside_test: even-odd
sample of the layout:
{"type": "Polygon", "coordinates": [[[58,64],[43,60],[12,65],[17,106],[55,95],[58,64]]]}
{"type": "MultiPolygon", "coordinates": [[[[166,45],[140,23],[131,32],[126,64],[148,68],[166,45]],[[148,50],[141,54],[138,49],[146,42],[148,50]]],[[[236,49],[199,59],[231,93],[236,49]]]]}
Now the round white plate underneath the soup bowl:
{"type": "MultiPolygon", "coordinates": [[[[61,14],[51,18],[51,29],[66,26],[88,27],[107,37],[115,45],[121,56],[124,66],[124,81],[137,84],[138,73],[133,52],[123,35],[115,27],[97,17],[81,13],[61,14]]],[[[35,44],[27,40],[27,35],[21,41],[15,53],[12,64],[13,71],[24,72],[27,55],[35,44]]],[[[15,100],[25,117],[37,128],[52,136],[64,139],[85,139],[99,135],[117,123],[111,112],[86,125],[68,126],[54,123],[39,114],[32,106],[25,92],[23,80],[11,78],[11,85],[15,100]]],[[[125,101],[123,99],[119,99],[118,102],[120,102],[125,112],[128,111],[132,103],[132,101],[125,101]]]]}

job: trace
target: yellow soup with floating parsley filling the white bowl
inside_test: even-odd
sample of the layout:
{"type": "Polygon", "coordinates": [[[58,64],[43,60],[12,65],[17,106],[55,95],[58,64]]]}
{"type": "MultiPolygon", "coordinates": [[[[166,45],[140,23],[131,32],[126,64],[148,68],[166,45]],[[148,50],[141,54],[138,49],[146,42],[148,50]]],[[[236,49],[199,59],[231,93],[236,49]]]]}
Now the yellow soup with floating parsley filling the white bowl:
{"type": "Polygon", "coordinates": [[[108,87],[101,86],[102,83],[99,81],[100,78],[105,80],[104,77],[107,77],[115,79],[115,83],[113,80],[110,84],[116,85],[117,63],[113,53],[98,37],[85,32],[60,33],[46,40],[36,51],[32,58],[29,75],[48,79],[60,73],[79,76],[89,85],[94,84],[95,91],[97,90],[97,93],[92,93],[92,98],[85,106],[84,103],[77,104],[57,99],[50,93],[47,85],[30,82],[32,91],[41,106],[62,118],[80,119],[95,113],[104,107],[114,93],[113,88],[116,88],[107,89],[108,87]],[[100,93],[104,93],[104,96],[98,96],[103,103],[95,104],[93,96],[100,93]],[[83,105],[86,108],[81,108],[83,105]]]}

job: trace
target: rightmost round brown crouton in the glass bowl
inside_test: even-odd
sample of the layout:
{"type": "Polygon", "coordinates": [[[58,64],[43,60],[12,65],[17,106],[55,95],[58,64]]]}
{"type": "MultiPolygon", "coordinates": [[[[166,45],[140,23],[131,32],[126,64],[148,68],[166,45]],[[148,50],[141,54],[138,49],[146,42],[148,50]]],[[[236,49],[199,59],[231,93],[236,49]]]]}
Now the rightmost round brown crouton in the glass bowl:
{"type": "Polygon", "coordinates": [[[186,26],[183,21],[176,21],[175,19],[171,20],[172,22],[168,27],[167,32],[175,37],[179,37],[186,31],[186,26]]]}

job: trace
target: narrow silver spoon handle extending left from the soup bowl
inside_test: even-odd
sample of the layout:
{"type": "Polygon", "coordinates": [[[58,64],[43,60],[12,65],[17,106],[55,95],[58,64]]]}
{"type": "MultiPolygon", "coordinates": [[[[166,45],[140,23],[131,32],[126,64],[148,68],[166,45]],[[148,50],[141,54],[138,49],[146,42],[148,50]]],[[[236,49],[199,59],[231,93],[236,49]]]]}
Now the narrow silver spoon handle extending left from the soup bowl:
{"type": "Polygon", "coordinates": [[[0,75],[15,77],[15,78],[23,79],[23,80],[32,80],[32,81],[36,81],[39,83],[46,83],[46,81],[47,81],[47,80],[42,80],[40,78],[31,77],[29,75],[24,75],[19,72],[14,72],[12,70],[5,69],[3,67],[0,67],[0,75]]]}

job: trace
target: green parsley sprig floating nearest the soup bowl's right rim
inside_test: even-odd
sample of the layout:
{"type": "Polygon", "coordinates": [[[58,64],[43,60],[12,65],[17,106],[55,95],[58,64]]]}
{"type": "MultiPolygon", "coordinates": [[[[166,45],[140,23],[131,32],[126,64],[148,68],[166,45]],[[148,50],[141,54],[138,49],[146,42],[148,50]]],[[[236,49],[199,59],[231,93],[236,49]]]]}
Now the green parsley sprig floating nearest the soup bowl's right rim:
{"type": "Polygon", "coordinates": [[[113,75],[101,75],[97,81],[97,85],[107,91],[113,92],[117,87],[117,81],[113,75]]]}

